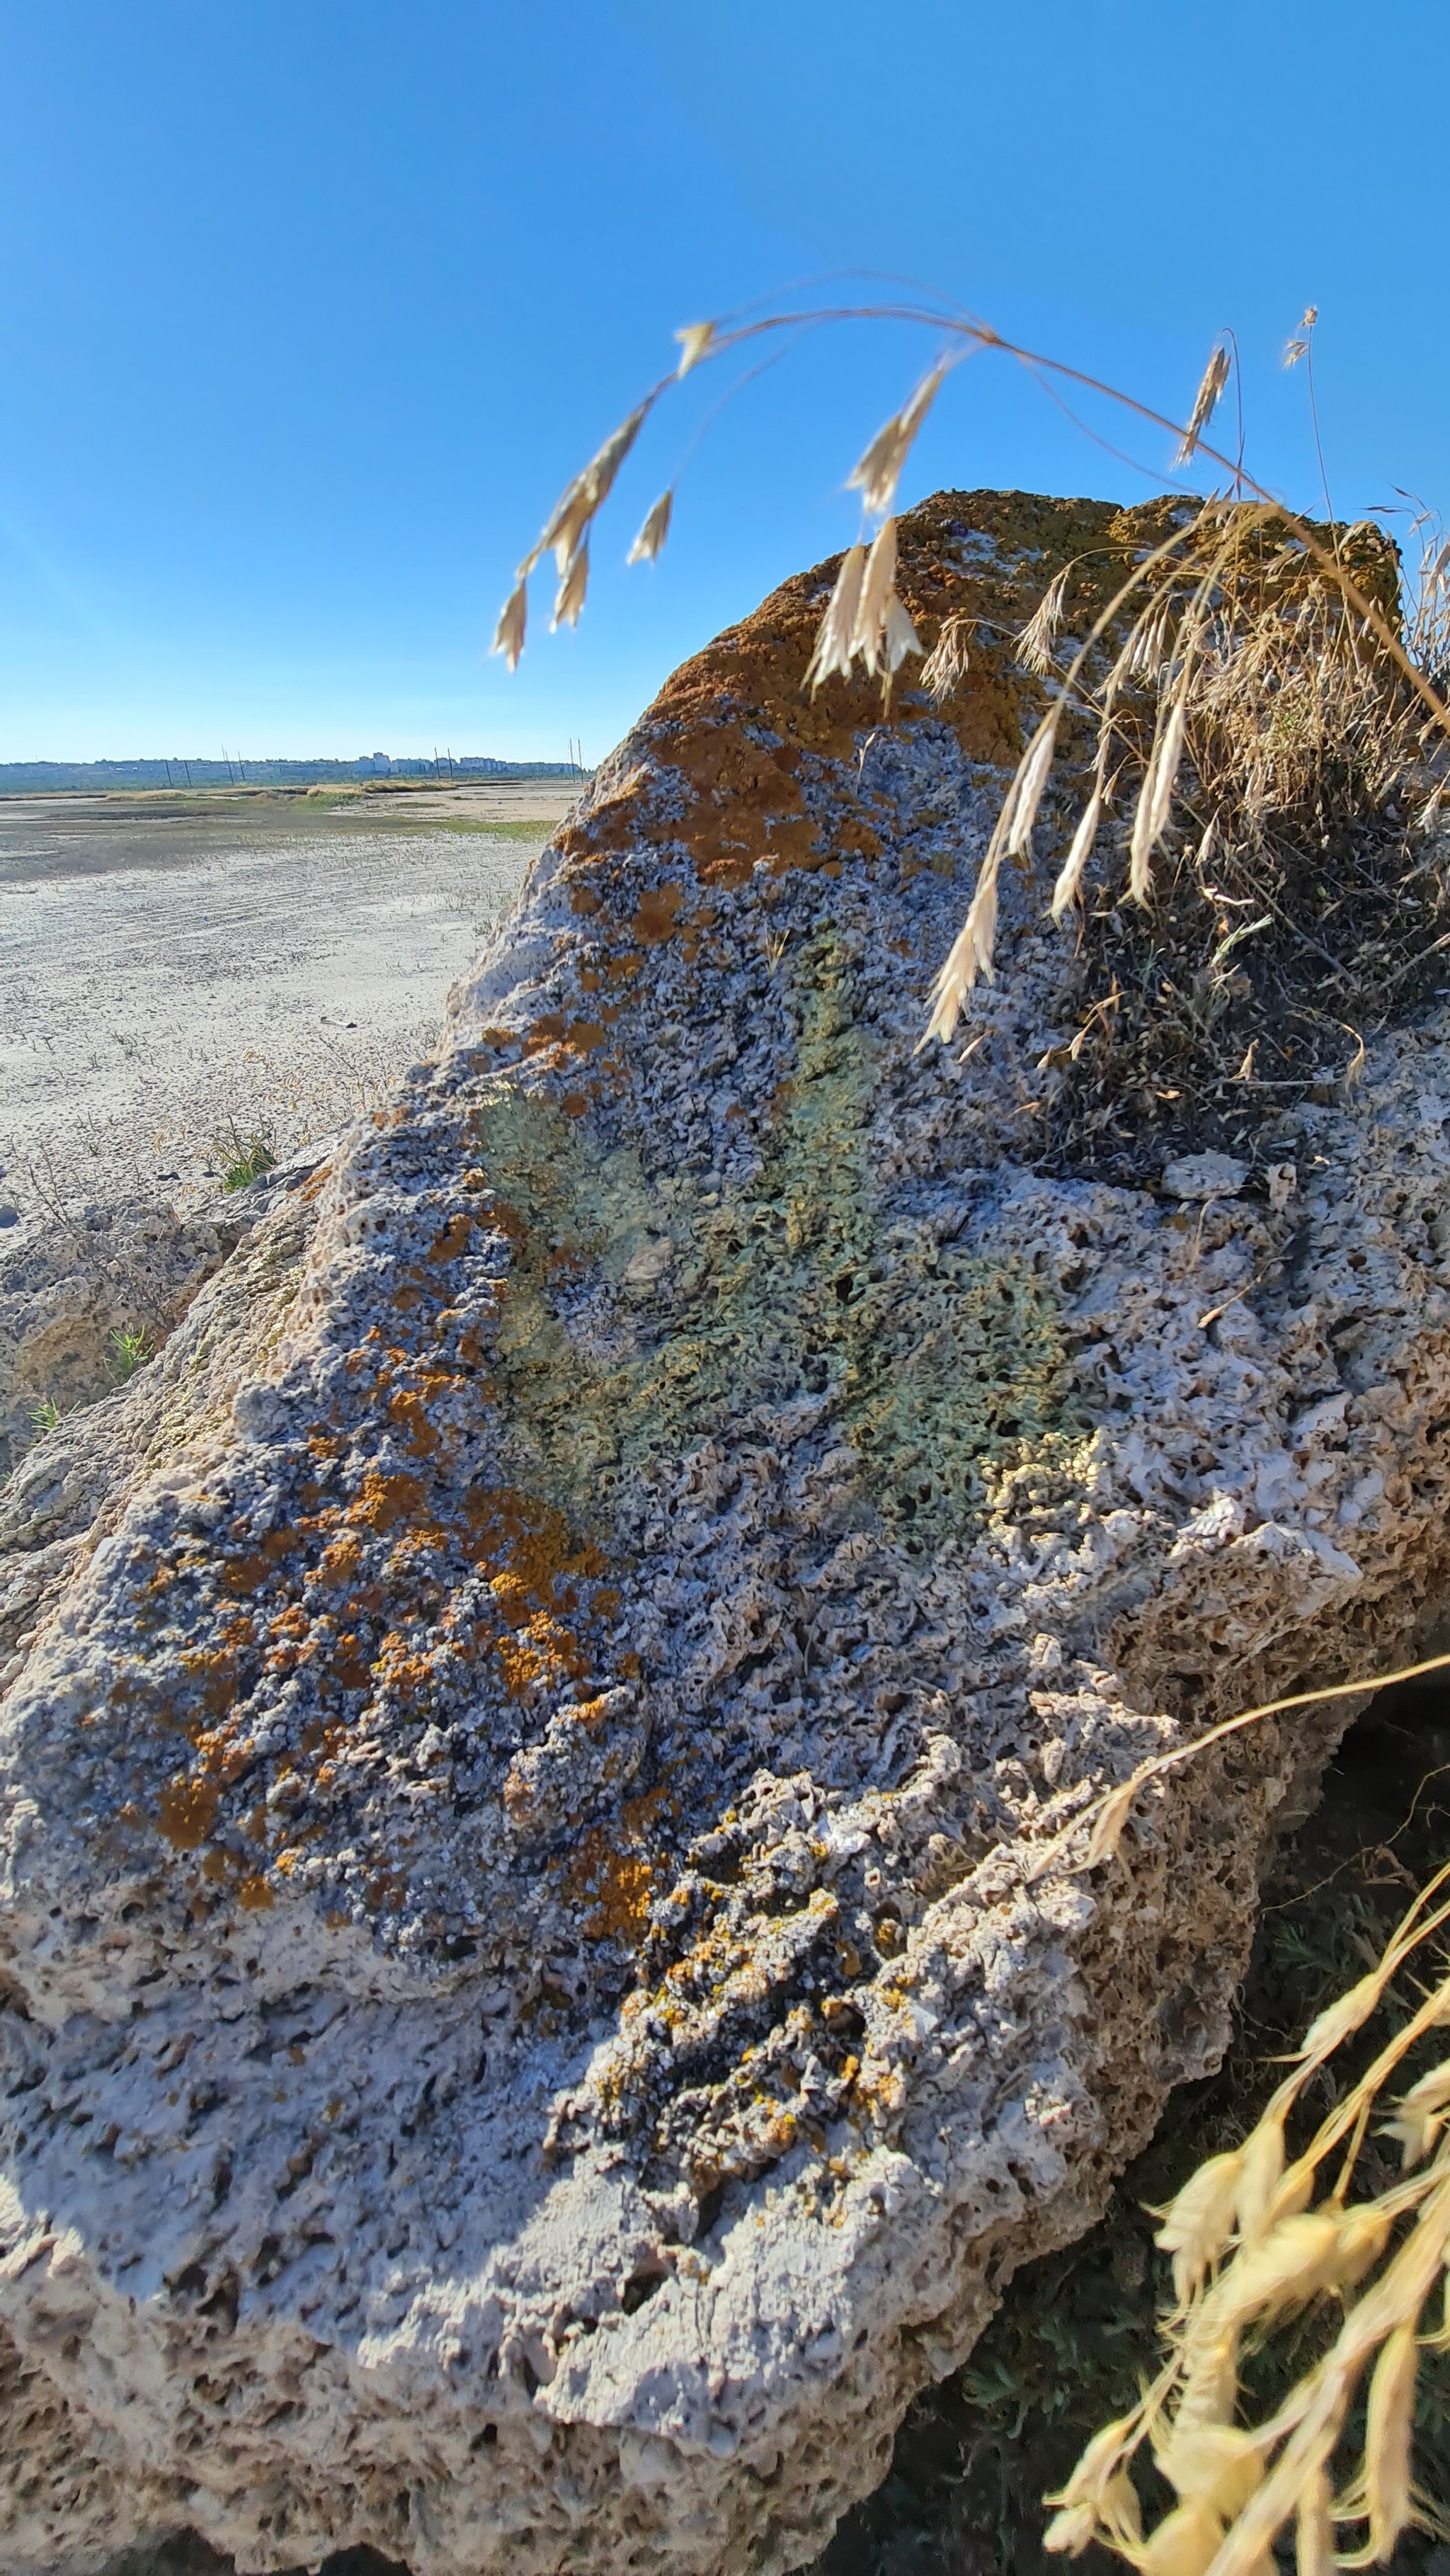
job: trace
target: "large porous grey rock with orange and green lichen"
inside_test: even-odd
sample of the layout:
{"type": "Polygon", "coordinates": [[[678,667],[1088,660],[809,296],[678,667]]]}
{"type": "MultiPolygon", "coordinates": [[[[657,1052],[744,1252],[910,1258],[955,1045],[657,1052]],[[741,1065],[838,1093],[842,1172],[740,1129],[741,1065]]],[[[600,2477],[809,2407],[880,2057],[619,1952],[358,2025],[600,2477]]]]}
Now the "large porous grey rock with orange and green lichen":
{"type": "MultiPolygon", "coordinates": [[[[1149,526],[937,495],[901,587],[1149,526]]],[[[0,1504],[10,2571],[804,2566],[1213,2066],[1347,1705],[1074,1819],[1442,1602],[1445,1030],[1293,1190],[1040,1177],[1040,881],[914,1054],[1028,683],[811,703],[832,569],[0,1504]]]]}

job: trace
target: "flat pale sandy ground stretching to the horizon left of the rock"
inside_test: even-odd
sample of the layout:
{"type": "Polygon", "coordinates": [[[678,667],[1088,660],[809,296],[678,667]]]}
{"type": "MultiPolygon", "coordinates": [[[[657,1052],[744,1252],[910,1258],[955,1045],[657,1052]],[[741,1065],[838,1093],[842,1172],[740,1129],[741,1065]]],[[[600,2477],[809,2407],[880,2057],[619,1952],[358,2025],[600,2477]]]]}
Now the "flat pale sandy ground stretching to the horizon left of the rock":
{"type": "Polygon", "coordinates": [[[371,1108],[574,796],[3,799],[0,1211],[188,1206],[229,1128],[371,1108]]]}

